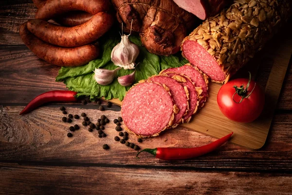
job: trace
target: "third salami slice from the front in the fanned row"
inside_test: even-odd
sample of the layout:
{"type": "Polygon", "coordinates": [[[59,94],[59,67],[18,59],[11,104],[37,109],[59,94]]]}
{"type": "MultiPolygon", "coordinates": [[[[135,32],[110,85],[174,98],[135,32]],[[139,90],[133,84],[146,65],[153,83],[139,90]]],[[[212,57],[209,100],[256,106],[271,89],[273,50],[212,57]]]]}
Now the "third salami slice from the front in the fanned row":
{"type": "Polygon", "coordinates": [[[177,73],[171,73],[171,72],[165,72],[165,73],[163,73],[163,75],[164,74],[170,78],[173,78],[176,80],[181,80],[182,82],[180,82],[180,84],[183,87],[187,88],[188,94],[189,94],[189,100],[188,100],[189,111],[186,115],[183,116],[183,122],[189,122],[192,115],[194,115],[197,112],[198,105],[199,105],[199,101],[198,101],[198,97],[197,97],[198,92],[197,92],[197,89],[195,88],[194,83],[187,76],[183,76],[183,75],[180,75],[177,73]]]}

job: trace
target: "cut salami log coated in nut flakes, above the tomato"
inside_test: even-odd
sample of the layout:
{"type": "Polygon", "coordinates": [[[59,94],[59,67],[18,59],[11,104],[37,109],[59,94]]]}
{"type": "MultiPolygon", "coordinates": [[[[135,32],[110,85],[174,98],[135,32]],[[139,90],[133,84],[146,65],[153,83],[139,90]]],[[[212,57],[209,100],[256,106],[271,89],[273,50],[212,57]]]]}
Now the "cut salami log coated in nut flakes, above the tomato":
{"type": "Polygon", "coordinates": [[[183,40],[183,56],[213,81],[227,82],[288,20],[288,0],[236,0],[183,40]]]}

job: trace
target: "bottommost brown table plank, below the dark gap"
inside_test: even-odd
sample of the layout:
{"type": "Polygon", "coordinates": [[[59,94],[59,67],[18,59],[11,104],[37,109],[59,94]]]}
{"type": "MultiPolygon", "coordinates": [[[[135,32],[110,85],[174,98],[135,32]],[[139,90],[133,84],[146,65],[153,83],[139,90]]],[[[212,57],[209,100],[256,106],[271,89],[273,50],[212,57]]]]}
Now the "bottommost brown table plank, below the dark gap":
{"type": "Polygon", "coordinates": [[[6,195],[286,195],[292,192],[290,183],[287,174],[0,163],[0,191],[6,195]]]}

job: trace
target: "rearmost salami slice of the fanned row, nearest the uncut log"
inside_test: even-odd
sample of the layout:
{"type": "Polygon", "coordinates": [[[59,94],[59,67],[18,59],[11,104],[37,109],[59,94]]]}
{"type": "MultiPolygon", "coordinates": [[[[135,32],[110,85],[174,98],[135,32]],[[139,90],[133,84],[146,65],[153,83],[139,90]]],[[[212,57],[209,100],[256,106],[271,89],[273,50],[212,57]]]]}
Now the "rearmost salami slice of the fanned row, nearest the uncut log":
{"type": "Polygon", "coordinates": [[[168,68],[163,70],[164,72],[173,72],[178,74],[186,75],[191,78],[197,90],[199,90],[198,100],[199,108],[203,107],[207,97],[208,97],[208,76],[203,74],[197,67],[192,66],[191,64],[185,64],[179,68],[168,68]]]}

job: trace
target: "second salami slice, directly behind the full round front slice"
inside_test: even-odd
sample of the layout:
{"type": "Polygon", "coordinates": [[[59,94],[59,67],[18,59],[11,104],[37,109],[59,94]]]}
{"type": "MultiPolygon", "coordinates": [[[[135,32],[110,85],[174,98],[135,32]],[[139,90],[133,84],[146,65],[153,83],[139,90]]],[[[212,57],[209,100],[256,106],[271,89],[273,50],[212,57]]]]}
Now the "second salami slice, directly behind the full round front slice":
{"type": "Polygon", "coordinates": [[[182,122],[183,116],[188,112],[188,92],[187,88],[183,87],[177,80],[166,76],[154,76],[148,78],[150,81],[158,82],[169,88],[169,92],[179,109],[179,112],[174,116],[172,127],[176,127],[182,122]]]}

